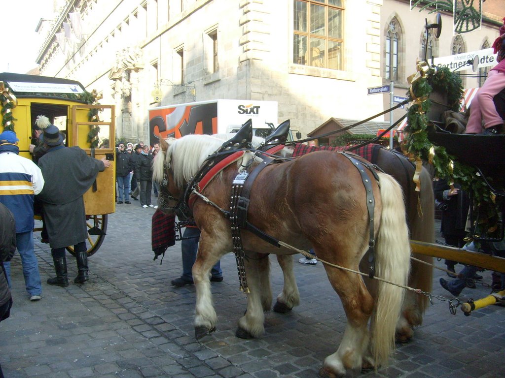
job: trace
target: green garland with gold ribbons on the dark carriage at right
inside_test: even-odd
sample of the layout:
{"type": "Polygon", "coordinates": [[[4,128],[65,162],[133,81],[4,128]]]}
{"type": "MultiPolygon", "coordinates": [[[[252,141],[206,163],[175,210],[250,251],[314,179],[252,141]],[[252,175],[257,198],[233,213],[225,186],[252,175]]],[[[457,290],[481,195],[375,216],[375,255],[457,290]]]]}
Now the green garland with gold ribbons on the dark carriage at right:
{"type": "MultiPolygon", "coordinates": [[[[431,162],[437,177],[461,184],[463,190],[473,196],[474,207],[479,211],[475,234],[493,237],[501,197],[494,197],[474,167],[458,162],[457,158],[447,153],[445,147],[434,146],[428,140],[429,120],[426,114],[432,105],[429,99],[432,92],[446,93],[448,107],[453,111],[459,110],[463,97],[460,77],[447,68],[430,68],[411,84],[410,95],[414,100],[408,111],[407,137],[402,148],[412,160],[420,158],[431,162]]],[[[488,181],[493,182],[491,178],[488,181]]]]}

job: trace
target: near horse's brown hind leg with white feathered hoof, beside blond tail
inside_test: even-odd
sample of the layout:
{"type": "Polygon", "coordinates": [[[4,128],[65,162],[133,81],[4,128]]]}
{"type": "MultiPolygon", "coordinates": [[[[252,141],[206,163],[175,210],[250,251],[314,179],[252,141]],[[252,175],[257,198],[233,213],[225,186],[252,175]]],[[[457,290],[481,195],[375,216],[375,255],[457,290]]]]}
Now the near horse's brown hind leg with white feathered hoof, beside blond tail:
{"type": "MultiPolygon", "coordinates": [[[[361,276],[327,265],[325,269],[347,316],[342,341],[337,351],[325,358],[320,371],[323,376],[334,377],[344,375],[348,369],[361,369],[370,341],[368,320],[372,314],[374,302],[361,276]]],[[[357,270],[357,267],[354,269],[357,270]]]]}

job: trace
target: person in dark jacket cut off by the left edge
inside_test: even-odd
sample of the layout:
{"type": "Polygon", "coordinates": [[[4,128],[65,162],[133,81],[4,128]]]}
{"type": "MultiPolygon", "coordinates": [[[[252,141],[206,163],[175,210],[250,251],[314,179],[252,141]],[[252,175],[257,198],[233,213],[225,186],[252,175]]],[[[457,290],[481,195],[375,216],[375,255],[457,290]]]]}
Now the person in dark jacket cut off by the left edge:
{"type": "MultiPolygon", "coordinates": [[[[16,250],[16,222],[14,214],[0,204],[0,322],[11,316],[12,295],[9,290],[4,263],[10,261],[16,250]]],[[[3,377],[0,365],[0,377],[3,377]]]]}

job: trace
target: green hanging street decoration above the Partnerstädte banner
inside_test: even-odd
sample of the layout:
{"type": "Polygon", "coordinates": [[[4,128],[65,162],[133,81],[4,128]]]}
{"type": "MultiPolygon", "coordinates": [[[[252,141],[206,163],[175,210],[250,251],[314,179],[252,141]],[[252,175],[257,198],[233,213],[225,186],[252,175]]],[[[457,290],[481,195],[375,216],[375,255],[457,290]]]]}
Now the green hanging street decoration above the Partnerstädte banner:
{"type": "Polygon", "coordinates": [[[482,0],[411,0],[411,10],[421,5],[419,12],[432,8],[428,13],[445,11],[452,13],[453,32],[469,33],[477,30],[482,24],[482,0]]]}

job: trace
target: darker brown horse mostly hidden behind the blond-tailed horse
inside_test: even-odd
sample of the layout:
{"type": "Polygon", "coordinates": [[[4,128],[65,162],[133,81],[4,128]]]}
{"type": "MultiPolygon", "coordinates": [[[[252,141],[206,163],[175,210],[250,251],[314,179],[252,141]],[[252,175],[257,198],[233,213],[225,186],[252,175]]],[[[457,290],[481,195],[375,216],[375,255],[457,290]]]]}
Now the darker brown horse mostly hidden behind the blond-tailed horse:
{"type": "MultiPolygon", "coordinates": [[[[253,141],[254,142],[254,141],[253,141]]],[[[377,146],[379,147],[379,146],[377,146]]],[[[433,243],[434,235],[434,197],[431,175],[427,169],[422,167],[419,181],[420,190],[416,190],[413,181],[416,167],[402,154],[391,151],[387,148],[374,148],[376,151],[367,157],[373,164],[376,164],[385,173],[393,176],[403,190],[403,197],[407,210],[407,221],[409,225],[411,239],[433,243]]],[[[282,156],[289,157],[292,150],[283,150],[282,156]]],[[[356,151],[363,156],[360,151],[356,151]]],[[[414,258],[422,260],[428,264],[412,261],[409,286],[430,292],[433,281],[433,258],[425,255],[414,254],[414,258]]],[[[299,293],[294,279],[293,259],[289,256],[277,255],[277,261],[281,266],[284,275],[284,287],[277,296],[277,302],[273,309],[277,312],[287,312],[299,304],[299,293]]],[[[367,271],[368,259],[363,259],[362,269],[367,271]]],[[[365,279],[367,285],[373,283],[365,279]]],[[[414,327],[420,326],[423,321],[423,314],[428,305],[428,297],[419,295],[413,291],[407,291],[403,308],[396,326],[396,339],[406,342],[412,338],[414,327]]]]}

